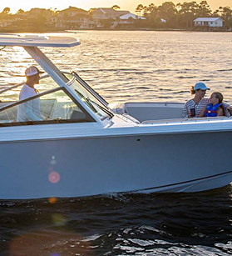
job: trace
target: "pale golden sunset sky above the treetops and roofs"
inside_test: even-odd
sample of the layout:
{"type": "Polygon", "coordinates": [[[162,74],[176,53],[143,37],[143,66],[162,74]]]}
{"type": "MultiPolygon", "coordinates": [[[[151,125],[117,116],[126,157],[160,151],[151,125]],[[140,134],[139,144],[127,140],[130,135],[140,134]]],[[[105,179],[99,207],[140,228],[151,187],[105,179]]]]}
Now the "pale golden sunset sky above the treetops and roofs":
{"type": "MultiPolygon", "coordinates": [[[[90,8],[110,8],[111,6],[117,4],[121,10],[129,10],[131,13],[135,13],[136,7],[141,3],[143,5],[149,5],[150,3],[154,3],[155,5],[160,5],[165,1],[170,0],[66,0],[66,1],[55,1],[55,0],[40,0],[40,1],[28,1],[28,0],[7,0],[0,1],[0,12],[2,12],[3,8],[10,8],[11,13],[16,13],[18,9],[22,8],[24,11],[28,11],[31,8],[57,8],[57,10],[62,10],[68,8],[69,6],[74,6],[77,8],[83,8],[85,10],[89,10],[90,8]]],[[[191,2],[193,0],[174,0],[173,3],[183,3],[183,2],[191,2]]],[[[200,3],[200,1],[197,1],[200,3]]],[[[220,6],[230,6],[232,8],[231,0],[208,0],[210,7],[215,10],[220,6]]]]}

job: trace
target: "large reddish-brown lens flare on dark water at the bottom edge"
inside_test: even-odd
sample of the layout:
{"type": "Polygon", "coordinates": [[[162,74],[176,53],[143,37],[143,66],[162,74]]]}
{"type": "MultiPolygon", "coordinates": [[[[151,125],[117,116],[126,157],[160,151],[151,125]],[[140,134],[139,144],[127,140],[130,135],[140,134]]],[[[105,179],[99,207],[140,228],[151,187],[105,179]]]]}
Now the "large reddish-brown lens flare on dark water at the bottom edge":
{"type": "Polygon", "coordinates": [[[30,229],[12,239],[9,243],[9,254],[12,256],[93,255],[90,241],[84,241],[77,232],[63,230],[63,228],[56,228],[55,230],[30,229]]]}

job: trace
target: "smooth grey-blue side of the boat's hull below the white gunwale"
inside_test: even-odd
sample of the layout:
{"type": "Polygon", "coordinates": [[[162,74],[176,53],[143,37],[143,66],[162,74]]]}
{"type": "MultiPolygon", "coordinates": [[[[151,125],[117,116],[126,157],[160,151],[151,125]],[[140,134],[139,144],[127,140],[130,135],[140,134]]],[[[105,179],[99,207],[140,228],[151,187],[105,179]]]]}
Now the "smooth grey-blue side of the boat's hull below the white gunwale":
{"type": "Polygon", "coordinates": [[[198,192],[232,181],[232,132],[0,143],[0,198],[198,192]]]}

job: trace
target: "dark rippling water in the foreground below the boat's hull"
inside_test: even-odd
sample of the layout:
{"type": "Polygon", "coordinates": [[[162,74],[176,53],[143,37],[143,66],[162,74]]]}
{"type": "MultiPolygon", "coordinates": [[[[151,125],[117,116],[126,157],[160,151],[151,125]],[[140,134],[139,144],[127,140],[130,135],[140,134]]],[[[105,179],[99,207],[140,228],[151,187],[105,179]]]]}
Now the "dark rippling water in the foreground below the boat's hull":
{"type": "Polygon", "coordinates": [[[231,187],[1,202],[1,255],[230,255],[231,187]]]}

